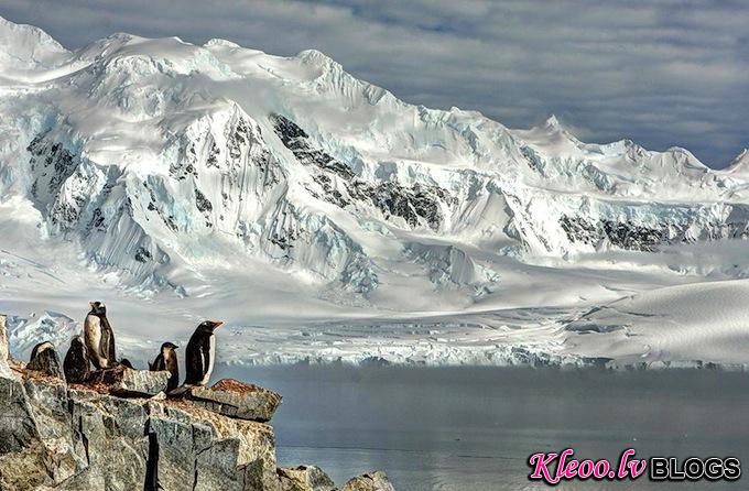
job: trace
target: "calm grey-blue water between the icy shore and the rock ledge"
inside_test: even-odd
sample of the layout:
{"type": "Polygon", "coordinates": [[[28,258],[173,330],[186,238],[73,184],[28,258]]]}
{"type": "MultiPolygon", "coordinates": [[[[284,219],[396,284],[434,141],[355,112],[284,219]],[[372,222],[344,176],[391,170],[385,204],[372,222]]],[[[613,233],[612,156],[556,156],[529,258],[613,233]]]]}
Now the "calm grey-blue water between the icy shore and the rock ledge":
{"type": "MultiPolygon", "coordinates": [[[[399,491],[541,490],[528,458],[739,457],[749,466],[749,374],[709,370],[222,367],[283,394],[282,466],[315,463],[340,487],[383,469],[399,491]]],[[[568,481],[560,490],[749,489],[736,482],[568,481]]]]}

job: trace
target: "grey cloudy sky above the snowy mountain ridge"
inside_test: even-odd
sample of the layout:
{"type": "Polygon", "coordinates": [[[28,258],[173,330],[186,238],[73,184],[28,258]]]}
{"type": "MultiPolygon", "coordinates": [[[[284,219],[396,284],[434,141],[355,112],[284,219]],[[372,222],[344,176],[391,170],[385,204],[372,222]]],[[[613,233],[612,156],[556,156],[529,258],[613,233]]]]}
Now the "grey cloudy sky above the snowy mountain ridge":
{"type": "Polygon", "coordinates": [[[582,140],[683,146],[724,167],[749,146],[749,2],[0,0],[68,48],[128,32],[319,50],[427,107],[512,128],[554,113],[582,140]]]}

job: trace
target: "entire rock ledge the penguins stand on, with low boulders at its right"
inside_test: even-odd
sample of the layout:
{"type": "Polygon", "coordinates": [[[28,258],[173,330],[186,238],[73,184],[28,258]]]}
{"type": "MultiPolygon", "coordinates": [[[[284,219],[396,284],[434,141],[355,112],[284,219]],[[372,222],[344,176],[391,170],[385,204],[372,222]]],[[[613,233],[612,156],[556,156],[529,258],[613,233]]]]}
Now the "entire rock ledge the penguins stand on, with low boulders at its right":
{"type": "MultiPolygon", "coordinates": [[[[315,466],[278,468],[279,394],[222,380],[167,399],[167,378],[118,368],[67,384],[9,357],[0,315],[0,489],[336,490],[315,466]]],[[[393,488],[372,472],[344,490],[393,488]]]]}

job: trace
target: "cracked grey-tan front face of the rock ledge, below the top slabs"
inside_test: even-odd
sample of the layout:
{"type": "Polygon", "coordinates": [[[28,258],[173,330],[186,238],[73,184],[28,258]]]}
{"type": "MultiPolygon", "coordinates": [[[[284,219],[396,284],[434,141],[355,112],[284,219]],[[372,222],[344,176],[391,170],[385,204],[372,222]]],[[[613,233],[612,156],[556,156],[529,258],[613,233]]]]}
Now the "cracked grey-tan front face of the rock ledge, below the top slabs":
{"type": "Polygon", "coordinates": [[[3,490],[280,490],[270,426],[24,371],[4,392],[3,490]]]}

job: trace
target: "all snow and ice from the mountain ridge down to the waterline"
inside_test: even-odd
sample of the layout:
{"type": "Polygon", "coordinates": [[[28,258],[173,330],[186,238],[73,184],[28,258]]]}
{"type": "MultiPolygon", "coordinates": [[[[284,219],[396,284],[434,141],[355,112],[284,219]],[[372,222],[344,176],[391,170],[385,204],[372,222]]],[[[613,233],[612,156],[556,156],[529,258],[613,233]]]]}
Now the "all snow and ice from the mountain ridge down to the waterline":
{"type": "Polygon", "coordinates": [[[325,54],[0,19],[0,309],[26,354],[102,299],[128,358],[749,362],[749,157],[430,109],[325,54]],[[697,309],[699,315],[685,315],[697,309]]]}

